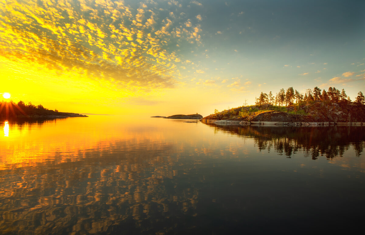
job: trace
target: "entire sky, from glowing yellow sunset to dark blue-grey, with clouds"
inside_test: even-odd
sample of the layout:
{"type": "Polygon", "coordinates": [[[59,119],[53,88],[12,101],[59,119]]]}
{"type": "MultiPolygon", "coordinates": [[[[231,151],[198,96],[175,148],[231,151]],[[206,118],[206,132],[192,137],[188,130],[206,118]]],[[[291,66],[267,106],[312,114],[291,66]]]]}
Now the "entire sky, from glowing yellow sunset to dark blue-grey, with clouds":
{"type": "Polygon", "coordinates": [[[63,112],[199,113],[365,92],[365,1],[0,0],[0,94],[63,112]]]}

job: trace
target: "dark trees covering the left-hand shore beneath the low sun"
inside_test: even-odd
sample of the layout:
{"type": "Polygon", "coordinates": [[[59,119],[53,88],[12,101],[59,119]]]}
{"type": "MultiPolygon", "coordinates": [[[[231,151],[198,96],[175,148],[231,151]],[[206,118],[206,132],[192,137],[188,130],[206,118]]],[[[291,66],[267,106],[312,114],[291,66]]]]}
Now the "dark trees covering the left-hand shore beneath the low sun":
{"type": "Polygon", "coordinates": [[[49,110],[43,107],[42,104],[34,105],[31,102],[25,104],[23,101],[15,103],[14,101],[0,102],[0,115],[1,116],[18,116],[18,115],[41,115],[41,116],[52,116],[59,115],[57,109],[49,110]]]}

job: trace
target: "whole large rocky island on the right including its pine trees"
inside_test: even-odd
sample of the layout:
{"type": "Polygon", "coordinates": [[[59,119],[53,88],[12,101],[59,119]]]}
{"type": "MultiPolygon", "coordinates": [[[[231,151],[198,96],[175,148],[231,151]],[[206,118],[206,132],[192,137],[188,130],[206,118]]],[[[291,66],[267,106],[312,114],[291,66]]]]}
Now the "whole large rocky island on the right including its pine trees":
{"type": "Polygon", "coordinates": [[[342,89],[330,87],[328,92],[315,87],[307,89],[305,96],[293,88],[285,93],[281,89],[276,96],[260,94],[255,105],[231,108],[200,119],[203,123],[217,125],[288,125],[329,126],[337,124],[365,125],[365,97],[358,93],[355,102],[342,89]],[[296,103],[294,103],[294,100],[296,103]]]}

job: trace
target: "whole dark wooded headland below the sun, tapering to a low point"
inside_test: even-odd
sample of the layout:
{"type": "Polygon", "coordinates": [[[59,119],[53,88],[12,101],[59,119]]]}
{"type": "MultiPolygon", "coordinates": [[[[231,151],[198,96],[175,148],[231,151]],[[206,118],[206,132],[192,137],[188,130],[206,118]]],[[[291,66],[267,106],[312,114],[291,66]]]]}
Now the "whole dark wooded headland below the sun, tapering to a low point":
{"type": "Polygon", "coordinates": [[[68,117],[87,117],[78,113],[59,112],[57,109],[49,110],[43,105],[34,105],[23,101],[0,102],[0,120],[32,120],[32,119],[55,119],[68,117]]]}

